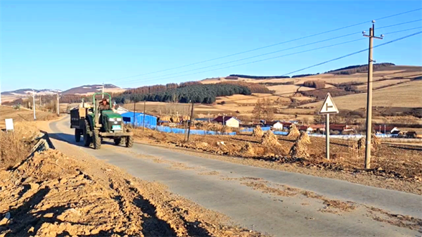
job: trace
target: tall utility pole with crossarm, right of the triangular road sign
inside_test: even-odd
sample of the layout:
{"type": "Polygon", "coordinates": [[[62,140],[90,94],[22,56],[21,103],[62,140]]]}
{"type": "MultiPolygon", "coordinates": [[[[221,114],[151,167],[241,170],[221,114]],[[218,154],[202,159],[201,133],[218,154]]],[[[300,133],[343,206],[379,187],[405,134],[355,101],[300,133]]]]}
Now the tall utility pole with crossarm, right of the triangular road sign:
{"type": "Polygon", "coordinates": [[[369,35],[364,34],[364,37],[369,37],[369,58],[368,58],[368,96],[366,99],[366,146],[365,146],[365,169],[371,169],[371,132],[372,132],[372,50],[373,50],[373,38],[383,39],[375,36],[375,20],[372,21],[372,27],[369,28],[369,35]]]}

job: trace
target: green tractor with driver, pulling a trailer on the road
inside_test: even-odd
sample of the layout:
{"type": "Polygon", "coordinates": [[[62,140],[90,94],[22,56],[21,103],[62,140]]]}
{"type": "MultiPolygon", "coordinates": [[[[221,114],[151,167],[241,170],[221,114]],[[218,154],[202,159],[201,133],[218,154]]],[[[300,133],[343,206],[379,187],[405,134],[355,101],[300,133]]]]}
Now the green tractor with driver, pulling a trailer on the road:
{"type": "Polygon", "coordinates": [[[82,108],[70,110],[70,128],[75,129],[75,141],[81,141],[83,136],[84,146],[93,144],[94,149],[101,148],[104,138],[113,139],[116,146],[134,146],[133,133],[124,128],[122,115],[113,110],[98,110],[95,98],[98,94],[108,96],[108,101],[111,101],[110,94],[96,93],[92,96],[94,108],[84,108],[82,102],[82,108]]]}

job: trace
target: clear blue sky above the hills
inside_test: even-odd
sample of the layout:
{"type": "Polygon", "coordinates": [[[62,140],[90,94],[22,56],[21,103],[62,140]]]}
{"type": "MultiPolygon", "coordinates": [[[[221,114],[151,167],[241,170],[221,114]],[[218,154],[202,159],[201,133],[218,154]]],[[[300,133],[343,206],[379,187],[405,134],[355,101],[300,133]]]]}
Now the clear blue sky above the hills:
{"type": "MultiPolygon", "coordinates": [[[[1,91],[20,88],[69,89],[102,82],[120,87],[185,82],[229,74],[283,75],[353,51],[368,40],[233,68],[186,75],[231,60],[269,53],[302,44],[368,30],[371,19],[422,8],[422,1],[6,1],[1,13],[1,91]],[[177,70],[139,77],[167,68],[248,51],[347,25],[363,25],[272,46],[267,49],[212,60],[177,70]],[[169,75],[172,74],[172,75],[169,75]],[[169,76],[163,76],[169,75],[169,76]],[[182,77],[176,77],[185,75],[182,77]],[[131,77],[121,79],[122,77],[131,77]],[[168,78],[172,77],[172,78],[168,78]]],[[[422,18],[422,11],[378,20],[377,27],[422,18]]],[[[422,27],[422,21],[376,30],[376,34],[422,27]]],[[[386,35],[375,45],[421,29],[386,35]]],[[[357,33],[242,60],[246,63],[343,41],[361,39],[357,33]]],[[[422,65],[422,36],[374,49],[377,62],[422,65]]],[[[238,63],[207,68],[223,68],[238,63]]],[[[324,72],[367,63],[367,53],[310,68],[324,72]]]]}

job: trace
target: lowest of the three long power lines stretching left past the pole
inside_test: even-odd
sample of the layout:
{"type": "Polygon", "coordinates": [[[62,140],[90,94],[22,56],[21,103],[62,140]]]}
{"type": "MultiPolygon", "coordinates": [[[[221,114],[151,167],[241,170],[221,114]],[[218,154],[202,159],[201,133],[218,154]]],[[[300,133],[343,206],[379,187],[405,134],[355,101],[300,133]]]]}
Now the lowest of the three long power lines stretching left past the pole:
{"type": "MultiPolygon", "coordinates": [[[[421,27],[415,27],[415,28],[406,29],[406,30],[399,30],[397,32],[404,32],[404,31],[407,31],[407,30],[414,30],[414,29],[418,29],[418,28],[421,28],[421,27]]],[[[384,34],[394,34],[394,33],[397,33],[397,32],[387,32],[387,33],[384,33],[384,34]]],[[[308,50],[305,50],[305,51],[299,51],[299,52],[295,52],[295,53],[288,53],[288,54],[284,54],[284,55],[281,55],[281,56],[275,56],[275,57],[271,57],[271,58],[263,58],[261,60],[255,60],[255,61],[251,61],[251,62],[248,62],[248,63],[241,63],[241,64],[236,64],[236,65],[230,65],[230,66],[227,66],[227,67],[224,67],[224,68],[215,68],[215,69],[212,69],[212,70],[205,70],[205,71],[194,72],[194,73],[185,74],[185,75],[179,75],[179,76],[174,76],[174,77],[165,77],[165,78],[153,79],[153,80],[146,80],[146,81],[143,81],[142,79],[136,79],[136,80],[132,80],[132,81],[129,81],[129,82],[123,82],[122,84],[132,84],[133,82],[152,82],[152,81],[158,81],[158,80],[162,80],[162,79],[172,79],[172,78],[176,78],[176,77],[185,77],[185,76],[189,76],[189,75],[196,75],[196,74],[200,74],[200,73],[203,73],[203,72],[211,72],[211,71],[215,71],[215,70],[222,70],[222,69],[226,69],[226,68],[233,68],[233,67],[237,67],[237,66],[240,66],[240,65],[247,65],[247,64],[251,64],[251,63],[259,63],[259,62],[262,62],[264,60],[271,60],[271,59],[275,59],[275,58],[281,58],[281,57],[285,57],[285,56],[295,55],[295,54],[298,54],[298,53],[305,53],[305,52],[309,52],[309,51],[315,51],[315,50],[319,50],[319,49],[325,49],[325,48],[329,48],[329,47],[333,47],[333,46],[338,46],[340,44],[352,43],[354,41],[359,41],[359,40],[363,40],[363,39],[354,39],[352,41],[345,41],[345,42],[338,43],[338,44],[331,44],[331,45],[328,45],[328,46],[321,46],[321,47],[318,47],[318,48],[315,48],[315,49],[308,49],[308,50]]],[[[291,72],[291,73],[293,73],[293,72],[291,72]]]]}

